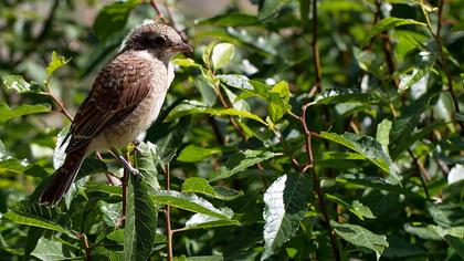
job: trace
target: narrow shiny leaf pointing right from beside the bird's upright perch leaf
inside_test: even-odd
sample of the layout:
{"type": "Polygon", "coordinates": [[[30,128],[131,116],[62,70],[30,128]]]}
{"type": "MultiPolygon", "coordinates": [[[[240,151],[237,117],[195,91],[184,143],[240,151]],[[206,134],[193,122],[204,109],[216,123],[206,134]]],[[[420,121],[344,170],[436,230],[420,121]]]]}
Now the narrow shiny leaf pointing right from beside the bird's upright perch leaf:
{"type": "Polygon", "coordinates": [[[212,203],[194,194],[181,194],[175,190],[161,190],[152,196],[154,200],[176,208],[184,209],[196,213],[204,213],[221,220],[230,220],[230,211],[222,211],[212,203]]]}

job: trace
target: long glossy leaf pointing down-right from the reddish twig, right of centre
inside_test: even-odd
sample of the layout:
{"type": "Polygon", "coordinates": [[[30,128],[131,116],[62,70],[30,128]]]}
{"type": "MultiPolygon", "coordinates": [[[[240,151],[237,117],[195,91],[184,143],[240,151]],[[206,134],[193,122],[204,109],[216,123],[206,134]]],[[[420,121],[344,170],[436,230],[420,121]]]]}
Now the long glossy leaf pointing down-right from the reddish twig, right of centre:
{"type": "Polygon", "coordinates": [[[345,133],[344,135],[338,135],[334,133],[321,132],[320,137],[336,142],[340,145],[344,145],[347,148],[350,148],[358,154],[365,156],[371,163],[377,165],[380,169],[389,175],[389,181],[391,184],[399,184],[400,177],[393,166],[393,163],[390,159],[390,156],[383,149],[382,145],[379,142],[375,140],[369,136],[360,136],[352,133],[345,133]]]}

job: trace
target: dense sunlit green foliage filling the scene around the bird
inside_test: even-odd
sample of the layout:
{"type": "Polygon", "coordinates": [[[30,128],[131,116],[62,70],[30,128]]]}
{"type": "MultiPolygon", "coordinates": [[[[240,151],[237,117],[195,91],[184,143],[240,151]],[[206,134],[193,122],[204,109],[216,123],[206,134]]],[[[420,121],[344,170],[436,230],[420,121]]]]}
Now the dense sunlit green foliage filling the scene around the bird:
{"type": "Polygon", "coordinates": [[[0,8],[1,260],[464,259],[463,0],[263,0],[207,18],[104,2],[0,8]],[[125,150],[139,175],[101,152],[59,206],[38,205],[70,112],[152,18],[194,53],[125,150]]]}

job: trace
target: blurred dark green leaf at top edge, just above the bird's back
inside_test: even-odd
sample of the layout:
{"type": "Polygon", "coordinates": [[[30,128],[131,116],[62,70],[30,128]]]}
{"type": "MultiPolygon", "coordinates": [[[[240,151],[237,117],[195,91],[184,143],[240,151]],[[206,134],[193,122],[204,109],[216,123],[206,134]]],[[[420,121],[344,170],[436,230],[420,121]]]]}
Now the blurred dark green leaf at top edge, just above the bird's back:
{"type": "Polygon", "coordinates": [[[119,32],[127,22],[130,11],[140,0],[115,1],[102,8],[95,19],[93,30],[102,42],[119,32]]]}

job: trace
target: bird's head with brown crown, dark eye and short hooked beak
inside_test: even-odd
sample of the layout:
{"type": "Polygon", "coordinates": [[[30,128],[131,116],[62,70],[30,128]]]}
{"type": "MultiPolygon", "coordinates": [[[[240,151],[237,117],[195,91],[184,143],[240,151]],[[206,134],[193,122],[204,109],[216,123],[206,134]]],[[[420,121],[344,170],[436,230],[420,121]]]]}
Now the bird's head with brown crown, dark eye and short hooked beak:
{"type": "Polygon", "coordinates": [[[169,61],[180,52],[192,52],[171,27],[161,23],[146,23],[136,28],[127,38],[123,51],[149,51],[162,61],[169,61]]]}

